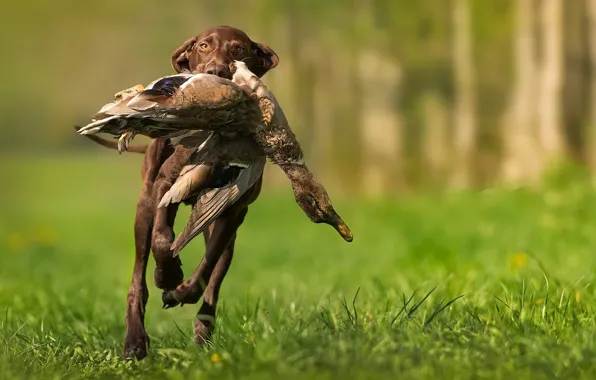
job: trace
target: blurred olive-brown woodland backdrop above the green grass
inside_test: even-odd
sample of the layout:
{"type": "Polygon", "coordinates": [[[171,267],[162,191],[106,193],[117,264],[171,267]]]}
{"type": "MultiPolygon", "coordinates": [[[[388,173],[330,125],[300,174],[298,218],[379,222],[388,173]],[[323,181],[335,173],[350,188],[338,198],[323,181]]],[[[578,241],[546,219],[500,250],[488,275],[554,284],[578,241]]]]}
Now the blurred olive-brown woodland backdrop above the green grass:
{"type": "MultiPolygon", "coordinates": [[[[8,2],[3,152],[97,154],[72,131],[121,88],[171,73],[219,24],[269,44],[266,76],[325,182],[371,195],[596,170],[591,1],[8,2]]],[[[273,181],[277,174],[268,178],[273,181]]]]}

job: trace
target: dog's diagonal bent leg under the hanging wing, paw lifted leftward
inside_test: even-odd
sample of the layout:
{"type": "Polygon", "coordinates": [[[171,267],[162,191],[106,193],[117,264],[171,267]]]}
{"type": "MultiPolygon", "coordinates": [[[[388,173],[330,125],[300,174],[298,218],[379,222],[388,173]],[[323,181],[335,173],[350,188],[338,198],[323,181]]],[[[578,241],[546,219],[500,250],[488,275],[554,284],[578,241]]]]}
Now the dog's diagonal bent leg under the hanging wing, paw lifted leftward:
{"type": "MultiPolygon", "coordinates": [[[[188,280],[178,285],[175,290],[163,293],[162,301],[164,303],[164,309],[179,304],[195,304],[199,302],[201,296],[203,296],[205,288],[208,287],[211,275],[214,272],[218,261],[224,254],[228,245],[235,239],[236,231],[244,221],[247,212],[248,207],[246,206],[239,211],[229,209],[213,222],[213,225],[210,226],[211,234],[203,260],[201,260],[201,263],[188,280]]],[[[222,265],[224,264],[222,263],[222,265]]],[[[219,285],[221,285],[224,275],[225,272],[222,272],[218,275],[220,276],[220,280],[214,281],[219,281],[219,285]]],[[[215,285],[216,283],[214,283],[213,290],[215,291],[215,289],[217,289],[217,291],[219,291],[219,286],[215,285]]],[[[206,308],[209,309],[209,307],[208,304],[206,308]]]]}

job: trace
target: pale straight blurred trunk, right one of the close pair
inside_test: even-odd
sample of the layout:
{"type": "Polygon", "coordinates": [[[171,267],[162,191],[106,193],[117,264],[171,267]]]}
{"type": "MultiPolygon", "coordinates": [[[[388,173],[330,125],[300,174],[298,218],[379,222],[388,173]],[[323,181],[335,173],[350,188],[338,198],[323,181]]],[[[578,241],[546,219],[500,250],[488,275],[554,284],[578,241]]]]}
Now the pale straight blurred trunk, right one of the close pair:
{"type": "Polygon", "coordinates": [[[563,0],[541,0],[540,26],[542,59],[538,90],[539,141],[545,163],[565,153],[562,131],[561,94],[563,88],[562,49],[563,0]]]}

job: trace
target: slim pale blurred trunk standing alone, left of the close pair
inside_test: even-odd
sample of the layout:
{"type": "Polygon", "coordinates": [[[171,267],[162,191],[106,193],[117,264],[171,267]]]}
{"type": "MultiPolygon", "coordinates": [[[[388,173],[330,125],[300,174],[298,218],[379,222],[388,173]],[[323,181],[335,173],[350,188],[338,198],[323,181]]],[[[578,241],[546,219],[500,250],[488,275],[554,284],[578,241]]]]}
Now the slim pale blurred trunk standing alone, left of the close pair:
{"type": "Polygon", "coordinates": [[[473,180],[472,164],[476,146],[474,65],[468,0],[455,0],[453,3],[453,31],[455,166],[451,185],[466,187],[473,180]]]}

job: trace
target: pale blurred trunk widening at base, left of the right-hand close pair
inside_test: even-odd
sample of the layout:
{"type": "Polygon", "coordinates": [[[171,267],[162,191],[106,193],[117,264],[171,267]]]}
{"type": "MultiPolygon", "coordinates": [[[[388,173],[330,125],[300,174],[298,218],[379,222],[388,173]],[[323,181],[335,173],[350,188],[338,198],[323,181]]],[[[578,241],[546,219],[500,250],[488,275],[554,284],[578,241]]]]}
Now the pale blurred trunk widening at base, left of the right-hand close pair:
{"type": "Polygon", "coordinates": [[[536,38],[534,2],[517,0],[515,32],[516,81],[503,119],[503,178],[534,181],[542,169],[536,132],[536,38]]]}

